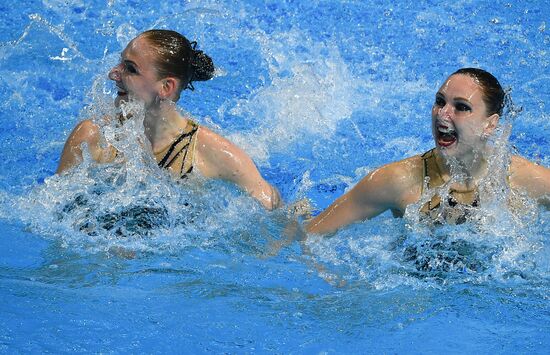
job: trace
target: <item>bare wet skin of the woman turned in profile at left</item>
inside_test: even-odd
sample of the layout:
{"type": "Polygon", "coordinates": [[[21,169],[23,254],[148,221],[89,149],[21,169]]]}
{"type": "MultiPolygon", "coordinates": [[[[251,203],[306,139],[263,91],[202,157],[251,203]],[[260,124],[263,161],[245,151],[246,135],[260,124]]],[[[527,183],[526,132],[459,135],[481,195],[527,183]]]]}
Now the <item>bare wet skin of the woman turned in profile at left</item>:
{"type": "MultiPolygon", "coordinates": [[[[124,49],[120,63],[108,74],[117,88],[116,106],[123,107],[123,103],[132,101],[144,104],[143,126],[153,153],[162,151],[177,139],[187,127],[189,119],[180,114],[175,104],[180,97],[180,79],[159,77],[156,69],[157,53],[147,38],[138,36],[124,49]]],[[[116,156],[116,149],[105,145],[101,131],[93,120],[84,120],[67,139],[57,173],[82,162],[82,143],[86,143],[97,163],[112,162],[116,156]]],[[[235,183],[265,208],[277,208],[281,203],[277,190],[263,179],[252,159],[243,150],[203,126],[196,132],[193,166],[194,172],[206,178],[235,183]]],[[[178,172],[170,168],[168,170],[179,178],[178,172]]]]}

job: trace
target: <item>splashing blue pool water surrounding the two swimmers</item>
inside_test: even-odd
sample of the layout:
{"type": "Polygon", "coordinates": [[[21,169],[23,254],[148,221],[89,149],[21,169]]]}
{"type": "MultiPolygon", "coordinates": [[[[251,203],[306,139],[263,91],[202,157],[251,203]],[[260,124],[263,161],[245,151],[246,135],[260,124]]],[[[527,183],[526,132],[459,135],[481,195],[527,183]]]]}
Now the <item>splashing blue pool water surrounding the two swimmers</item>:
{"type": "Polygon", "coordinates": [[[544,1],[153,3],[0,3],[0,352],[548,352],[549,213],[536,207],[435,230],[384,214],[287,245],[283,211],[223,182],[175,184],[132,125],[117,133],[125,166],[53,176],[76,122],[109,112],[121,49],[152,27],[212,56],[218,75],[181,107],[287,202],[322,210],[430,149],[435,91],[463,66],[523,108],[501,145],[550,166],[544,1]]]}

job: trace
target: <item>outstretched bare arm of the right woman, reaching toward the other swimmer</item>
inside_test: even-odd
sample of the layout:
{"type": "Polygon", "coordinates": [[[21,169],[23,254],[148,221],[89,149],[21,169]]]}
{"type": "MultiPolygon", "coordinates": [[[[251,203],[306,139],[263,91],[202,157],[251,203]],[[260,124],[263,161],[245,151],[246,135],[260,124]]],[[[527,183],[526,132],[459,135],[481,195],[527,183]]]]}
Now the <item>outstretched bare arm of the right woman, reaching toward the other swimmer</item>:
{"type": "Polygon", "coordinates": [[[327,234],[356,221],[373,218],[403,204],[403,162],[378,168],[364,177],[349,192],[339,197],[307,226],[308,233],[327,234]]]}

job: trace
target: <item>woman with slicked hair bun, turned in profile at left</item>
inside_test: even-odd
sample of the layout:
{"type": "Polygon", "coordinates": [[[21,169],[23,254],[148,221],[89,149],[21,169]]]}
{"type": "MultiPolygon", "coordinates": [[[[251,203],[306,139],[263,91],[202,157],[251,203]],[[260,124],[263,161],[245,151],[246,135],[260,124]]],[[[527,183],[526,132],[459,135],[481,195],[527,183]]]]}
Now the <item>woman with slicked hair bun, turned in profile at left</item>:
{"type": "MultiPolygon", "coordinates": [[[[160,167],[176,178],[193,170],[208,178],[232,181],[264,207],[274,209],[280,204],[279,193],[262,178],[250,157],[227,139],[181,115],[174,104],[182,90],[193,89],[193,81],[209,80],[213,75],[212,59],[195,50],[184,36],[169,30],[141,33],[130,41],[121,62],[109,72],[118,90],[116,106],[129,100],[144,104],[145,135],[160,167]]],[[[57,173],[82,161],[82,143],[87,144],[96,162],[112,162],[117,155],[115,148],[105,147],[101,141],[96,124],[80,122],[65,143],[57,173]]]]}

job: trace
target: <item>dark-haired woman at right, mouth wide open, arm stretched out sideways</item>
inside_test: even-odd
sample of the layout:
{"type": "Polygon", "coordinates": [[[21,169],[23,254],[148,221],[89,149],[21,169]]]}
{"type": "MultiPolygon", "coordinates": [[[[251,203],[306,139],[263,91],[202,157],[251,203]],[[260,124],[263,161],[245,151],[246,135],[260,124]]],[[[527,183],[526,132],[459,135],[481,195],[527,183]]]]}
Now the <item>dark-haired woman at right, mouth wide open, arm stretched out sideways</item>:
{"type": "MultiPolygon", "coordinates": [[[[403,216],[426,187],[434,193],[420,213],[432,218],[441,217],[441,207],[451,211],[458,210],[456,205],[476,207],[483,202],[478,200],[479,182],[491,173],[487,138],[497,127],[503,106],[504,91],[490,73],[475,68],[453,73],[437,91],[432,108],[435,148],[374,170],[308,223],[306,230],[331,233],[387,210],[403,216]],[[445,184],[449,184],[448,199],[436,193],[445,184]]],[[[550,205],[550,169],[512,156],[508,173],[511,189],[550,205]]],[[[464,216],[453,220],[450,213],[450,217],[450,222],[460,223],[464,216]]]]}

